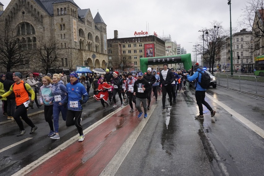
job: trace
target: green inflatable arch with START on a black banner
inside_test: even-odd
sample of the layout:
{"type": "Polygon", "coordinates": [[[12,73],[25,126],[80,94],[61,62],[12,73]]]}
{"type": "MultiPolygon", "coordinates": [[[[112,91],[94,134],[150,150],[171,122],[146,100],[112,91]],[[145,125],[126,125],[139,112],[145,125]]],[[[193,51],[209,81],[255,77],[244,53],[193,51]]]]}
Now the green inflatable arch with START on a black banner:
{"type": "Polygon", "coordinates": [[[186,70],[189,70],[192,66],[191,54],[182,54],[175,56],[162,56],[162,57],[153,57],[153,58],[140,58],[140,70],[142,72],[147,72],[148,65],[163,65],[164,63],[173,64],[173,63],[183,63],[183,67],[186,70]]]}

